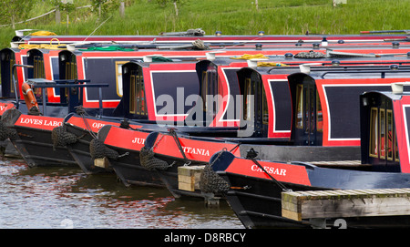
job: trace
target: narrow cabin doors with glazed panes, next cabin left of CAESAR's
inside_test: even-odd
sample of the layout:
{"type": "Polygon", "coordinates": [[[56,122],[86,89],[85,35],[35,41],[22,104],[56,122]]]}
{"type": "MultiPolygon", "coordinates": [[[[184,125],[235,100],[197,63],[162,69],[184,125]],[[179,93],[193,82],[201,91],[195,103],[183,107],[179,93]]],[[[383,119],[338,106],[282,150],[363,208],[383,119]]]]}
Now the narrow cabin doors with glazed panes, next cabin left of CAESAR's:
{"type": "MultiPolygon", "coordinates": [[[[296,145],[318,145],[316,125],[319,98],[313,83],[296,85],[294,142],[296,145]]],[[[320,106],[320,103],[319,103],[320,106]]],[[[321,118],[321,116],[319,116],[321,118]]]]}

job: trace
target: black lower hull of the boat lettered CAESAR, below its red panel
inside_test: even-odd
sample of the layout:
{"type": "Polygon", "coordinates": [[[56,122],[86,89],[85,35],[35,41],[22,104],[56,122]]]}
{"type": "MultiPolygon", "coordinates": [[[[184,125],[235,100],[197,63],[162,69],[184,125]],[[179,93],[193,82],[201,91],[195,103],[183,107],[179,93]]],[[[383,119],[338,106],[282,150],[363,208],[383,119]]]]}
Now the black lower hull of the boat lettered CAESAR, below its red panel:
{"type": "MultiPolygon", "coordinates": [[[[282,217],[282,188],[273,180],[263,180],[219,172],[228,180],[231,187],[248,188],[246,190],[229,190],[225,198],[231,209],[246,228],[313,228],[309,221],[292,221],[282,217]]],[[[332,190],[282,183],[287,189],[301,190],[332,190]]],[[[339,228],[338,219],[326,219],[327,228],[339,228]]],[[[347,228],[408,228],[410,216],[355,217],[343,218],[347,228]]]]}

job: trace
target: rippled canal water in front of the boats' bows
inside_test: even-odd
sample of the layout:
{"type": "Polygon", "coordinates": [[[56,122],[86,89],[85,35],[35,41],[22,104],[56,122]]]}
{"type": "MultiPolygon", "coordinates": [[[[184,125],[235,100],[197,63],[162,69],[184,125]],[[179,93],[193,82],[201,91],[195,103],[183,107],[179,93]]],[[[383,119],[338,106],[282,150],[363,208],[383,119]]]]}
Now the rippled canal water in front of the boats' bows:
{"type": "Polygon", "coordinates": [[[226,201],[175,199],[168,190],[125,187],[115,173],[28,168],[0,160],[0,229],[243,229],[226,201]]]}

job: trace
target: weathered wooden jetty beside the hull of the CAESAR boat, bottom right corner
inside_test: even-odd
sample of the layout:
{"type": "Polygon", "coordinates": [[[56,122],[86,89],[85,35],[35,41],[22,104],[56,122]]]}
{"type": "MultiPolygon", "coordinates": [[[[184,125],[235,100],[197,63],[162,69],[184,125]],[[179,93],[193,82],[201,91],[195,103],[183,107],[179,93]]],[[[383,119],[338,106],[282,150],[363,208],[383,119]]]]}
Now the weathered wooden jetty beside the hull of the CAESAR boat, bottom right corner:
{"type": "Polygon", "coordinates": [[[282,216],[295,220],[410,215],[410,189],[282,192],[282,216]]]}

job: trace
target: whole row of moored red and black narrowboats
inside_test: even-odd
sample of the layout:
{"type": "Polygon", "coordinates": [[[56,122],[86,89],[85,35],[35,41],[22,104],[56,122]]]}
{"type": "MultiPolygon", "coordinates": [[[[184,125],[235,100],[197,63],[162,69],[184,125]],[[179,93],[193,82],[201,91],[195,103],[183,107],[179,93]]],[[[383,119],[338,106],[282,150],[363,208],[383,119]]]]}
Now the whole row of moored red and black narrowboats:
{"type": "MultiPolygon", "coordinates": [[[[10,82],[2,87],[2,124],[12,129],[8,138],[29,166],[113,172],[126,186],[166,187],[175,197],[205,198],[212,193],[179,187],[179,168],[212,167],[228,184],[215,194],[230,201],[246,227],[299,227],[304,223],[282,218],[277,202],[264,212],[255,198],[272,192],[272,201],[280,200],[283,186],[408,187],[401,163],[405,139],[394,137],[402,128],[400,107],[385,107],[395,105],[388,100],[400,101],[399,95],[406,102],[406,93],[382,100],[376,91],[410,81],[410,46],[353,36],[345,45],[335,44],[336,36],[327,38],[333,46],[277,44],[279,38],[262,47],[200,51],[165,48],[165,41],[161,48],[137,51],[7,48],[1,51],[2,72],[13,64],[24,67],[15,67],[15,78],[14,72],[2,73],[2,81],[10,82]],[[26,107],[22,82],[36,92],[36,113],[26,107]],[[368,107],[375,102],[384,103],[368,107]],[[391,128],[380,129],[386,126],[391,128]],[[351,177],[358,180],[343,180],[351,177]],[[258,205],[238,212],[248,204],[258,205]],[[267,221],[263,214],[272,217],[267,221]]],[[[362,220],[349,224],[367,223],[362,220]]]]}

